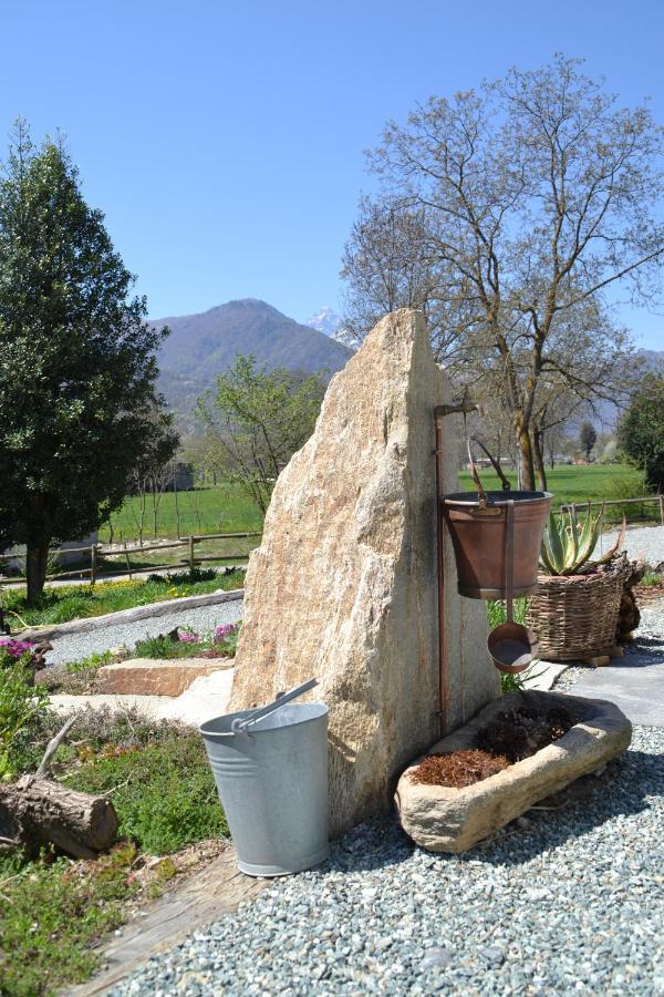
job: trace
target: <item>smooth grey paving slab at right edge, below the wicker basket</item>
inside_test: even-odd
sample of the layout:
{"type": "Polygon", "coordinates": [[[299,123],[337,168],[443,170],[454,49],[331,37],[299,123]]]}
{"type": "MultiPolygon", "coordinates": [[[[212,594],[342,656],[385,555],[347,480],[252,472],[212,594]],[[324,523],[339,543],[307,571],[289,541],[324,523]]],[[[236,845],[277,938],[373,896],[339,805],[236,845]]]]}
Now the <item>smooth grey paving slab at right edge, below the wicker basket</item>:
{"type": "Polygon", "coordinates": [[[634,658],[620,659],[590,671],[574,683],[573,693],[608,699],[634,724],[664,727],[664,661],[639,665],[634,658]]]}

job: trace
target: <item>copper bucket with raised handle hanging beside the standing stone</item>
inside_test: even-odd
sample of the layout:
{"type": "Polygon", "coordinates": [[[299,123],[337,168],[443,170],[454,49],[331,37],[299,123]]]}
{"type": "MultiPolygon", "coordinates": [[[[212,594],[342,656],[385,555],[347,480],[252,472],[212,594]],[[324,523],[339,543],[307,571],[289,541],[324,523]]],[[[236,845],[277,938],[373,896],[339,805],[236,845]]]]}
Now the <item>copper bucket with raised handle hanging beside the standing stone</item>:
{"type": "Polygon", "coordinates": [[[511,594],[528,595],[537,589],[539,553],[553,495],[550,492],[512,492],[500,464],[484,444],[479,445],[502,481],[502,491],[485,492],[468,441],[470,472],[477,494],[453,492],[440,500],[454,545],[459,595],[471,599],[506,598],[507,510],[510,501],[513,502],[511,594]]]}

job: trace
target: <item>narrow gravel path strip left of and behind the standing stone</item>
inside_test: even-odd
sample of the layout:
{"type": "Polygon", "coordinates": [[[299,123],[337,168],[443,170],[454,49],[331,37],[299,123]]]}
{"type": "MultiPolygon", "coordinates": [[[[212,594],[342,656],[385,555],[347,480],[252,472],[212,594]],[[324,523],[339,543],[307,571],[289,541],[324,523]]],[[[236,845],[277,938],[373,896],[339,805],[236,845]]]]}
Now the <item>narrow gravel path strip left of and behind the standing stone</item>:
{"type": "Polygon", "coordinates": [[[197,633],[214,630],[220,624],[241,619],[243,605],[242,599],[232,599],[214,606],[200,606],[198,609],[183,609],[167,616],[155,616],[153,619],[137,619],[135,623],[98,627],[84,634],[64,634],[56,640],[51,640],[53,650],[49,651],[46,660],[49,665],[60,665],[63,661],[79,661],[89,655],[118,647],[121,644],[132,648],[144,637],[156,637],[157,634],[166,634],[174,627],[191,627],[197,633]]]}

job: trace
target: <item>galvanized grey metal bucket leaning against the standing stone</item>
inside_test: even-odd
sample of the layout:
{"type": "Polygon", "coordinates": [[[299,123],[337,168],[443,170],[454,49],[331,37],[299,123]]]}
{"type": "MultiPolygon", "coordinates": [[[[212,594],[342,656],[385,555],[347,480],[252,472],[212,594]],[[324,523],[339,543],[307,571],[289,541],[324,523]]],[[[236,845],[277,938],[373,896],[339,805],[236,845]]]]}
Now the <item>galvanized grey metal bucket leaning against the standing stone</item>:
{"type": "Polygon", "coordinates": [[[200,727],[238,867],[250,876],[301,872],[330,851],[328,707],[270,706],[200,727]]]}

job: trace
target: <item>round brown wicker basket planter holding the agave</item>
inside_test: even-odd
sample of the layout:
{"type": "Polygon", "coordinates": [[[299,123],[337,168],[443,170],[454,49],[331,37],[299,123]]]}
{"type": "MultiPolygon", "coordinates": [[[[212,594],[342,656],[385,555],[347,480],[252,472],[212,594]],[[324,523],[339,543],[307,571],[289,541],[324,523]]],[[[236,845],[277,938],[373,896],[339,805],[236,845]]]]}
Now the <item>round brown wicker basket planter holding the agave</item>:
{"type": "Polygon", "coordinates": [[[592,575],[539,575],[528,602],[527,625],[546,661],[577,661],[606,654],[615,644],[618,615],[632,567],[622,555],[592,575]]]}

